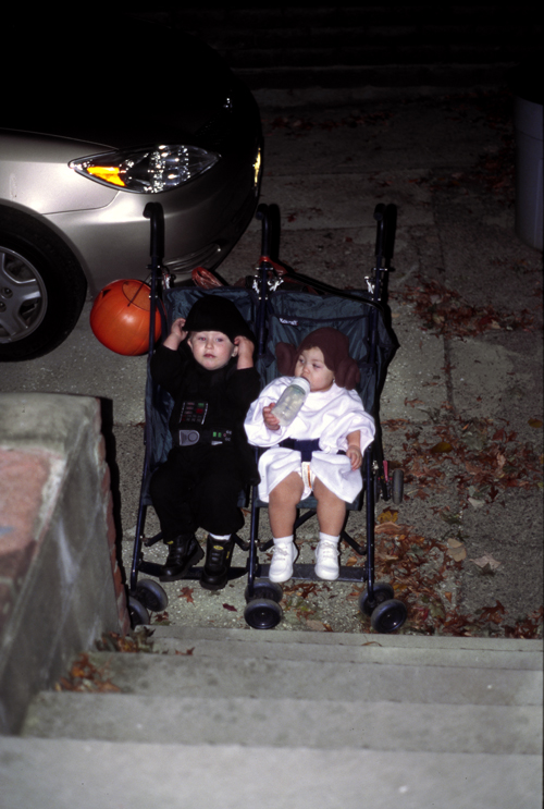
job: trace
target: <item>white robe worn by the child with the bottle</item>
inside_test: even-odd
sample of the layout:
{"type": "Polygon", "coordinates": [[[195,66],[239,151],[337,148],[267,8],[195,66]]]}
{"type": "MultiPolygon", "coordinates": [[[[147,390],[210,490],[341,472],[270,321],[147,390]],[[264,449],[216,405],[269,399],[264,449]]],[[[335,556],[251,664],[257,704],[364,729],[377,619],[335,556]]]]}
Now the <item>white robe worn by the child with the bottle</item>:
{"type": "MultiPolygon", "coordinates": [[[[292,377],[281,377],[268,384],[246,416],[249,443],[272,448],[263,452],[259,459],[259,498],[268,502],[270,492],[277,483],[292,471],[301,471],[300,453],[276,444],[286,438],[319,438],[319,450],[313,452],[311,458],[311,471],[341,500],[351,503],[362,489],[361,473],[360,469],[351,469],[346,455],[336,453],[347,450],[347,436],[355,430],[361,432],[361,452],[364,452],[374,438],[374,419],[364,412],[357,391],[347,391],[333,382],[327,391],[309,393],[290,425],[269,430],[262,409],[277,402],[290,381],[292,377]]],[[[302,498],[307,498],[310,491],[305,481],[302,498]]]]}

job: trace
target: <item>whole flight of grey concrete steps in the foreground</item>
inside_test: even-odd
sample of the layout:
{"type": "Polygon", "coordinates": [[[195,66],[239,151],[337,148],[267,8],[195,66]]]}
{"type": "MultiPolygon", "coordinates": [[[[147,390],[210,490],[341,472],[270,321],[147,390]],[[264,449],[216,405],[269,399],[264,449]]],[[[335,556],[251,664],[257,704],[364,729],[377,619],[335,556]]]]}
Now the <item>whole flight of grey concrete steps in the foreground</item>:
{"type": "Polygon", "coordinates": [[[157,627],[0,739],[2,809],[536,809],[542,642],[157,627]]]}

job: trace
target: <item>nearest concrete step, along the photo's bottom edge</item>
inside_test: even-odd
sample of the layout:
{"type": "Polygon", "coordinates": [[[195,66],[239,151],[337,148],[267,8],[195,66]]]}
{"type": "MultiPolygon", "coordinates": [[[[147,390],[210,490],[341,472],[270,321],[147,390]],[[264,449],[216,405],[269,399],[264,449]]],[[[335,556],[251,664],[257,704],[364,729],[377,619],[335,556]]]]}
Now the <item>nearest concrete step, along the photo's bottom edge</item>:
{"type": "Polygon", "coordinates": [[[0,737],[2,809],[540,809],[540,756],[0,737]]]}

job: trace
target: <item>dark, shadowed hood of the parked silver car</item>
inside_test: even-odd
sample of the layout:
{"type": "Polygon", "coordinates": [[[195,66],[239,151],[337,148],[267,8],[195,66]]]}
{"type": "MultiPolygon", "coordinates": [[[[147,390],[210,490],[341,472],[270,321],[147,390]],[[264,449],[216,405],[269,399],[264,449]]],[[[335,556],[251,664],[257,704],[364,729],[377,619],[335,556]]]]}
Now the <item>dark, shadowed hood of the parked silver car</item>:
{"type": "Polygon", "coordinates": [[[92,24],[83,33],[52,24],[25,28],[21,38],[14,32],[11,63],[23,48],[37,70],[22,68],[2,90],[0,128],[104,148],[158,138],[199,145],[199,131],[236,93],[235,77],[215,51],[182,32],[118,20],[109,34],[92,24]]]}

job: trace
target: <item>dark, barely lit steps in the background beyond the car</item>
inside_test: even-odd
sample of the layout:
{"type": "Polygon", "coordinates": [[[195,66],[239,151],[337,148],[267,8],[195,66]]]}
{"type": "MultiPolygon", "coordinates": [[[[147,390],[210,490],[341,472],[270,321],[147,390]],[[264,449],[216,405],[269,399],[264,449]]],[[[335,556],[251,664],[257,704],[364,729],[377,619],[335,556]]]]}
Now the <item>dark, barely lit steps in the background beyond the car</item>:
{"type": "Polygon", "coordinates": [[[259,88],[500,84],[541,53],[534,5],[243,3],[136,12],[211,45],[259,88]]]}

